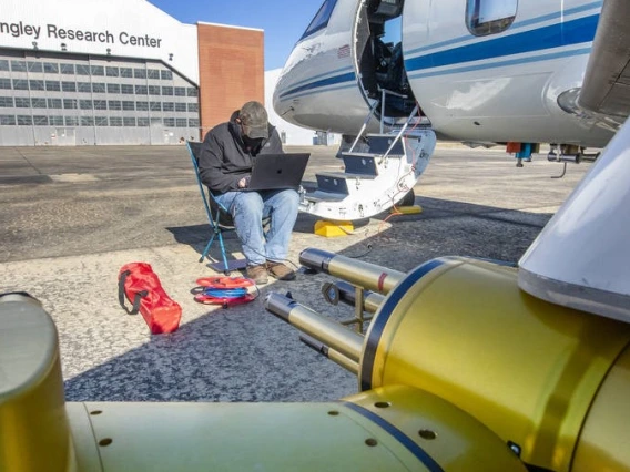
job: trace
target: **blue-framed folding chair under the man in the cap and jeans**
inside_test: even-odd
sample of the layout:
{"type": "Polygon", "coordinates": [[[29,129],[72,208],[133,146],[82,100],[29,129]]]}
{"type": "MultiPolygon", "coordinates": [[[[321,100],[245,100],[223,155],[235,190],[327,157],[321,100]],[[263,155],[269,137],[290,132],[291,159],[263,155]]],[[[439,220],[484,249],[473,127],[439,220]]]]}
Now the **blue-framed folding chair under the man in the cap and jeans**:
{"type": "MultiPolygon", "coordinates": [[[[195,175],[199,184],[199,189],[201,192],[201,197],[203,199],[203,205],[205,207],[205,213],[207,214],[207,220],[210,223],[210,228],[212,230],[212,236],[207,242],[205,249],[203,250],[199,261],[203,263],[210,253],[210,247],[212,243],[217,239],[221,247],[221,261],[212,261],[210,267],[216,271],[223,271],[228,275],[232,270],[238,270],[247,266],[246,259],[232,259],[227,260],[227,255],[225,253],[225,245],[223,244],[223,232],[234,230],[234,222],[232,220],[232,215],[214,199],[212,192],[205,188],[201,182],[201,175],[199,172],[199,155],[201,152],[201,143],[189,141],[186,143],[189,152],[191,154],[191,160],[193,162],[193,167],[195,170],[195,175]],[[207,194],[206,194],[207,191],[207,194]]],[[[210,259],[210,258],[209,258],[210,259]]]]}

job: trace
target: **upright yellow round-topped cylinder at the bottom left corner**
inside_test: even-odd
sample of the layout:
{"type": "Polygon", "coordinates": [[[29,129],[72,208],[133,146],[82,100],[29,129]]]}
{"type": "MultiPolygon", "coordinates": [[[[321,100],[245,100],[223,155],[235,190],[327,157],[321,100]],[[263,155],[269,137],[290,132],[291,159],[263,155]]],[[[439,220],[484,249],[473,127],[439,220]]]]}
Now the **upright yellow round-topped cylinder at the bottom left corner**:
{"type": "Polygon", "coordinates": [[[57,329],[26,294],[0,298],[0,471],[74,466],[57,329]]]}

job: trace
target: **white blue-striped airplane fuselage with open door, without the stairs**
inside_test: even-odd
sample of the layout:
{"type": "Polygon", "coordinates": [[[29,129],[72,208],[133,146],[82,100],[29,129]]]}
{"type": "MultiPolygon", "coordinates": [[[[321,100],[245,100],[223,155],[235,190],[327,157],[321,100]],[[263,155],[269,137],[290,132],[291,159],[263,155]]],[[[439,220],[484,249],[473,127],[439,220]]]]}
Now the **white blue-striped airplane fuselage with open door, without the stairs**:
{"type": "Polygon", "coordinates": [[[417,102],[439,138],[601,147],[613,130],[576,105],[601,7],[327,0],[286,62],[274,109],[301,126],[356,135],[384,88],[408,96],[380,113],[386,123],[417,102]]]}

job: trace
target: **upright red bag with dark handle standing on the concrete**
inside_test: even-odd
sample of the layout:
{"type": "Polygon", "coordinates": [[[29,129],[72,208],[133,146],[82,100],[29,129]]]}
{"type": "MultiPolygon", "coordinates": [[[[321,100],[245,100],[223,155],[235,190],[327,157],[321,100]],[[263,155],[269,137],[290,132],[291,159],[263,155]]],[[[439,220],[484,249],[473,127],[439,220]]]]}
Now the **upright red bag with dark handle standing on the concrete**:
{"type": "Polygon", "coordinates": [[[131,263],[119,271],[119,301],[130,315],[140,314],[151,334],[173,332],[180,327],[182,307],[162,288],[158,275],[145,263],[131,263]],[[124,298],[133,304],[130,310],[124,298]]]}

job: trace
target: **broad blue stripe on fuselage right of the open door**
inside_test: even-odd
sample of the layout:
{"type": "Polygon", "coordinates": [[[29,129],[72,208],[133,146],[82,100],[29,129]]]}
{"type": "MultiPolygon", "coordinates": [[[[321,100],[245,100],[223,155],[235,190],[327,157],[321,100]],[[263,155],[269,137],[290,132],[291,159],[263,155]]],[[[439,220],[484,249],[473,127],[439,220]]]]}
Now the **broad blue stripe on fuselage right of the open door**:
{"type": "Polygon", "coordinates": [[[556,23],[522,33],[467,44],[405,61],[407,73],[425,69],[482,61],[506,55],[590,42],[595,38],[599,14],[556,23]]]}

